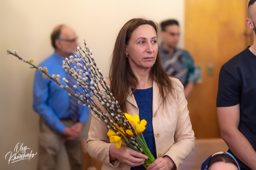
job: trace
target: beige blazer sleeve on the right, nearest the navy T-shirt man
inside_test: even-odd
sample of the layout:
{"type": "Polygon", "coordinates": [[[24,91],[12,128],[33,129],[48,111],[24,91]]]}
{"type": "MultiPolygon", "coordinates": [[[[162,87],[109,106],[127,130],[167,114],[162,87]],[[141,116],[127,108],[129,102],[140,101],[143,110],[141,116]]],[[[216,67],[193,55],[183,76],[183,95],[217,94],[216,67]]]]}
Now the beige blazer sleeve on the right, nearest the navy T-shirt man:
{"type": "Polygon", "coordinates": [[[176,84],[174,90],[178,104],[175,143],[164,155],[168,155],[179,167],[195,148],[195,133],[189,118],[188,102],[184,95],[183,85],[180,81],[175,81],[174,84],[176,84]]]}

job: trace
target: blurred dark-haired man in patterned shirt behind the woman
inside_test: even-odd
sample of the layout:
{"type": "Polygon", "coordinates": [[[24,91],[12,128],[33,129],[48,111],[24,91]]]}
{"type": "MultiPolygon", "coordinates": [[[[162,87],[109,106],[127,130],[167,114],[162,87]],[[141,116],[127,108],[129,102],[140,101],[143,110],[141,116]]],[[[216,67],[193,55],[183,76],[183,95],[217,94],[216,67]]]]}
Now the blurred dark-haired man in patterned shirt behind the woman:
{"type": "Polygon", "coordinates": [[[159,46],[159,54],[163,69],[170,76],[178,78],[184,85],[186,98],[193,91],[194,83],[200,80],[200,71],[195,66],[191,55],[177,48],[180,36],[180,27],[177,20],[161,22],[161,36],[163,43],[159,46]]]}

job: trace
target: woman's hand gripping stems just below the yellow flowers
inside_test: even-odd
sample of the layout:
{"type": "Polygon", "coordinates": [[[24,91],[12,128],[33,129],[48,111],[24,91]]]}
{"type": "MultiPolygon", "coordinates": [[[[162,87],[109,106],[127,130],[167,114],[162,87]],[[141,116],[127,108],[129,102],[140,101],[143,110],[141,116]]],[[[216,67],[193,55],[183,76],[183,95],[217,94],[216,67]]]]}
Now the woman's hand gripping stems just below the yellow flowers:
{"type": "Polygon", "coordinates": [[[125,145],[121,145],[120,148],[116,148],[115,144],[113,144],[109,148],[109,159],[110,161],[118,159],[123,164],[134,167],[144,164],[148,157],[128,148],[125,145]]]}

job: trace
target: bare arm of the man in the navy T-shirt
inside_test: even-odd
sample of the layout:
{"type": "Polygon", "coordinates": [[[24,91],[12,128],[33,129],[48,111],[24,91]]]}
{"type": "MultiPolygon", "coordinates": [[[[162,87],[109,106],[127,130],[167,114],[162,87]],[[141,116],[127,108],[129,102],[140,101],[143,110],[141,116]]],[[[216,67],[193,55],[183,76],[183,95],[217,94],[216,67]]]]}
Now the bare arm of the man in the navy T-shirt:
{"type": "Polygon", "coordinates": [[[221,138],[238,159],[251,169],[256,169],[256,152],[248,139],[238,130],[240,120],[239,104],[220,107],[217,108],[217,111],[221,138]]]}

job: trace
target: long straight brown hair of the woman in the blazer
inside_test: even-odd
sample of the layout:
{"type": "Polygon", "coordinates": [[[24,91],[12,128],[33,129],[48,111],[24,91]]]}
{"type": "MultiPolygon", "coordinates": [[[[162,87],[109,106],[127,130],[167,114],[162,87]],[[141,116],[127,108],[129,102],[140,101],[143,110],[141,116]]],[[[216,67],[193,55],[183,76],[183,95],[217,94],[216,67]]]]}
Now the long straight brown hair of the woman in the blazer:
{"type": "MultiPolygon", "coordinates": [[[[129,20],[120,30],[113,50],[109,70],[110,91],[119,102],[122,111],[127,111],[125,99],[131,91],[130,87],[134,88],[132,91],[132,93],[134,93],[138,84],[138,79],[134,73],[132,73],[128,59],[125,57],[125,48],[129,43],[132,32],[140,25],[151,25],[154,27],[157,34],[157,24],[155,24],[152,20],[133,18],[129,20]]],[[[172,82],[161,66],[159,53],[157,53],[155,64],[150,69],[150,77],[152,80],[157,82],[161,97],[163,99],[164,94],[172,92],[172,82]]]]}

